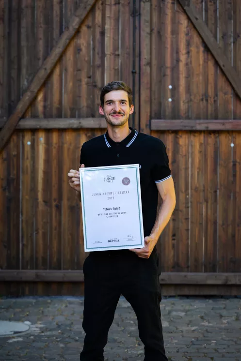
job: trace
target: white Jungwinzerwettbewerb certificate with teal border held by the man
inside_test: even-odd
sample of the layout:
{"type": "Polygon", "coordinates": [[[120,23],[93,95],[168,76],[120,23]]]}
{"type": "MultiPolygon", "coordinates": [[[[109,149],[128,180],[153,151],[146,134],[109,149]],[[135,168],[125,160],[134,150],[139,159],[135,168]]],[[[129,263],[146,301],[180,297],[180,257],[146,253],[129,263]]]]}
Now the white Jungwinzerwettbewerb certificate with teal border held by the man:
{"type": "Polygon", "coordinates": [[[145,245],[139,164],[80,168],[84,250],[145,245]]]}

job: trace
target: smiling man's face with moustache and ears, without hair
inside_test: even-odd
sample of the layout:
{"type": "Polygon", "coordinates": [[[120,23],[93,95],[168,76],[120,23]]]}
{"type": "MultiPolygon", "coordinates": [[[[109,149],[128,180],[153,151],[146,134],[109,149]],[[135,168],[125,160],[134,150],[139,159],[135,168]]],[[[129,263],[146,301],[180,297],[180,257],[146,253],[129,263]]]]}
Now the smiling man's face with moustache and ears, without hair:
{"type": "Polygon", "coordinates": [[[105,116],[107,123],[121,127],[129,120],[134,106],[129,106],[128,93],[125,90],[112,90],[105,94],[104,107],[99,106],[100,114],[105,116]]]}

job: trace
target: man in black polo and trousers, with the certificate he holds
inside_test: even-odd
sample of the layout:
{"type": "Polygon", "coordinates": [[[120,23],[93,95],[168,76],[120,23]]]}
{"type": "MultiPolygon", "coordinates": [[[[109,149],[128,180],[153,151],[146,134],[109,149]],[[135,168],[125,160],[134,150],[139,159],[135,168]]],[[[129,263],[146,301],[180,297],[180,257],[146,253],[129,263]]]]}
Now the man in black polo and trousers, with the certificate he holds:
{"type": "Polygon", "coordinates": [[[167,361],[161,325],[156,243],[176,205],[174,183],[160,139],[129,127],[131,89],[121,81],[100,94],[107,132],[82,145],[80,172],[70,186],[82,203],[86,333],[80,361],[103,361],[108,331],[122,294],[137,316],[145,361],[167,361]],[[158,194],[162,198],[157,214],[158,194]]]}

